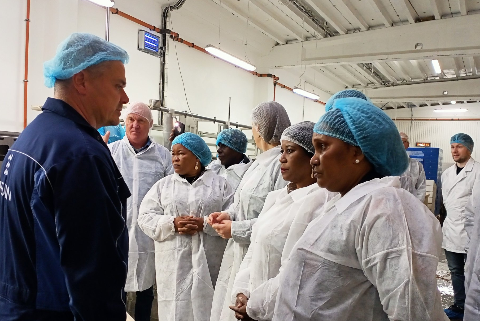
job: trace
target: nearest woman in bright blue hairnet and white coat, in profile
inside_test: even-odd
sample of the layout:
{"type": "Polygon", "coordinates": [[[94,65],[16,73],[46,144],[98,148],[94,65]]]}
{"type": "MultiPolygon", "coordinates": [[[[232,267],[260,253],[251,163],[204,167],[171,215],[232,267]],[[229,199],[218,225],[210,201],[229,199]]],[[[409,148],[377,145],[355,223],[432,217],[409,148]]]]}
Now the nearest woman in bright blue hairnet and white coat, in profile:
{"type": "Polygon", "coordinates": [[[294,246],[273,320],[447,320],[435,275],[440,224],[394,176],[408,166],[395,124],[342,98],[314,132],[318,185],[339,195],[294,246]]]}

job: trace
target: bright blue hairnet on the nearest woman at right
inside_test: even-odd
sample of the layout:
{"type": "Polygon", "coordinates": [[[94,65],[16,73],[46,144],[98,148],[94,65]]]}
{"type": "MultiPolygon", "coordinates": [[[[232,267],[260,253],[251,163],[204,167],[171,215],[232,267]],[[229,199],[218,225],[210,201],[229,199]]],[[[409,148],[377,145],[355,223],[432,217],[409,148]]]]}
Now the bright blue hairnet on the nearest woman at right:
{"type": "Polygon", "coordinates": [[[363,99],[335,100],[313,131],[360,147],[381,175],[398,176],[408,167],[408,156],[397,127],[380,108],[363,99]]]}

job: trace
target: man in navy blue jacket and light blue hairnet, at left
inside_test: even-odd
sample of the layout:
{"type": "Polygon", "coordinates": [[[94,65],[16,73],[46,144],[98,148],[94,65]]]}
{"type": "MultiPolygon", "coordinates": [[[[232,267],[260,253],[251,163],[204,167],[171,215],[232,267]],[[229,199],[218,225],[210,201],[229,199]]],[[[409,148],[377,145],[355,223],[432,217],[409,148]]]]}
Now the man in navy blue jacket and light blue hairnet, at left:
{"type": "Polygon", "coordinates": [[[0,320],[125,320],[130,196],[97,129],[128,102],[121,48],[73,34],[44,65],[54,97],[0,174],[0,320]]]}

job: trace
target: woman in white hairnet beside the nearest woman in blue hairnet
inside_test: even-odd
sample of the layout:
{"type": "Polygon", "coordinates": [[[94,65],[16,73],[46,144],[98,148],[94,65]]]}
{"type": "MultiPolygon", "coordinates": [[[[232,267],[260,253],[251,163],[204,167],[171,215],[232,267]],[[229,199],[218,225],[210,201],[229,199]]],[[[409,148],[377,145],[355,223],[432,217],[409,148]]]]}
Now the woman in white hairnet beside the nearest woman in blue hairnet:
{"type": "MultiPolygon", "coordinates": [[[[312,145],[313,126],[312,122],[301,122],[288,127],[282,134],[281,171],[283,179],[290,183],[268,194],[252,228],[251,244],[233,284],[232,297],[236,302],[231,308],[237,318],[249,316],[259,319],[261,314],[257,313],[256,303],[253,306],[250,304],[250,295],[278,274],[287,235],[299,208],[306,210],[303,205],[307,195],[315,194],[323,203],[328,197],[328,191],[319,189],[316,184],[310,166],[310,158],[315,151],[312,145]]],[[[319,204],[315,202],[315,205],[319,204]]]]}

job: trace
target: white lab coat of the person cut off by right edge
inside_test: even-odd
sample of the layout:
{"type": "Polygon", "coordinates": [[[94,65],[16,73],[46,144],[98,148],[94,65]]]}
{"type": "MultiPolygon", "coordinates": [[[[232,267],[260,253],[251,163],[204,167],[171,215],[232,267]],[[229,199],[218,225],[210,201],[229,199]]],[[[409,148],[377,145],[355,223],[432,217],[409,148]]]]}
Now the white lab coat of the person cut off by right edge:
{"type": "Polygon", "coordinates": [[[465,208],[465,230],[470,238],[465,264],[465,321],[480,320],[480,184],[475,184],[465,208]]]}

